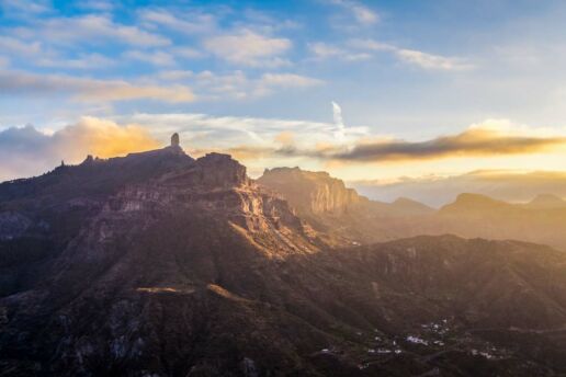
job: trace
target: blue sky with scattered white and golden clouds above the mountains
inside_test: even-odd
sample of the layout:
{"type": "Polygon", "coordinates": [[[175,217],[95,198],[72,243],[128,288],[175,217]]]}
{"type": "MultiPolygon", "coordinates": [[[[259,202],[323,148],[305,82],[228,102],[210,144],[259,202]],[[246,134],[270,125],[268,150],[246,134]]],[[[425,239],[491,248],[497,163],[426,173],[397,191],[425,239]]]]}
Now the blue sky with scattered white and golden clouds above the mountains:
{"type": "Polygon", "coordinates": [[[415,187],[376,197],[562,172],[565,19],[553,0],[0,0],[0,180],[174,132],[251,176],[415,187]]]}

